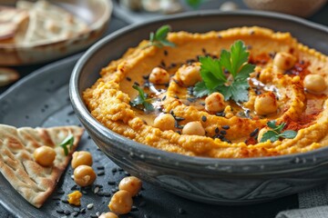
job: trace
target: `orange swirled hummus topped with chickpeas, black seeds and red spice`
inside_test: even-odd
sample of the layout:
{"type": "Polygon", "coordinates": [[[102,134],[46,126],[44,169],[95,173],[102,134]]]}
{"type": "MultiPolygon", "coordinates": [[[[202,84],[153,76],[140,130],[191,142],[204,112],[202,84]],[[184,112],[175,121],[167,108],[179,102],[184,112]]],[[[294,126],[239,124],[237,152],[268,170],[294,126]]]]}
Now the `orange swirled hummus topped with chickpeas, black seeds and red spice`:
{"type": "MultiPolygon", "coordinates": [[[[328,57],[289,33],[253,27],[220,32],[169,33],[174,47],[149,41],[129,48],[85,90],[90,113],[110,130],[138,143],[178,154],[243,158],[312,151],[328,145],[328,57]],[[218,58],[241,40],[255,64],[248,100],[224,100],[218,92],[196,97],[200,56],[218,58]],[[154,110],[131,102],[138,85],[154,110]],[[293,137],[264,140],[268,122],[293,137]]],[[[227,73],[227,72],[225,72],[227,73]]],[[[228,75],[227,75],[228,76],[228,75]]]]}

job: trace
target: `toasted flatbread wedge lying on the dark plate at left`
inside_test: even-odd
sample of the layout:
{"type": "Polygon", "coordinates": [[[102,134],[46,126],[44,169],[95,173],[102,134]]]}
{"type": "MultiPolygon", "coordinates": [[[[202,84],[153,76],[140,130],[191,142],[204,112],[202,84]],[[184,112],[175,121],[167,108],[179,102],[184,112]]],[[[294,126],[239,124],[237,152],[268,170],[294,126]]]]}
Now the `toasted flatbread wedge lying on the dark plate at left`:
{"type": "Polygon", "coordinates": [[[55,189],[83,131],[78,126],[15,128],[0,124],[0,172],[27,202],[39,208],[55,189]],[[57,145],[69,134],[73,134],[74,144],[69,154],[65,155],[64,149],[57,145]],[[51,167],[41,166],[33,158],[36,148],[42,145],[51,146],[56,151],[51,167]]]}

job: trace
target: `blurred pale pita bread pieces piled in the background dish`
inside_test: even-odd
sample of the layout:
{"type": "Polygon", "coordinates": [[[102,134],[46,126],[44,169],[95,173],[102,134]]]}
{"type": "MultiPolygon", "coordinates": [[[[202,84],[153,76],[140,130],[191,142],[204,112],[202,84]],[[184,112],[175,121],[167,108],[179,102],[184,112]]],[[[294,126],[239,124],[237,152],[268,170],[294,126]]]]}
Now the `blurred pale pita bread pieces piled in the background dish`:
{"type": "Polygon", "coordinates": [[[17,1],[0,7],[0,44],[44,45],[87,33],[85,21],[48,1],[17,1]],[[10,40],[8,40],[10,39],[10,40]]]}

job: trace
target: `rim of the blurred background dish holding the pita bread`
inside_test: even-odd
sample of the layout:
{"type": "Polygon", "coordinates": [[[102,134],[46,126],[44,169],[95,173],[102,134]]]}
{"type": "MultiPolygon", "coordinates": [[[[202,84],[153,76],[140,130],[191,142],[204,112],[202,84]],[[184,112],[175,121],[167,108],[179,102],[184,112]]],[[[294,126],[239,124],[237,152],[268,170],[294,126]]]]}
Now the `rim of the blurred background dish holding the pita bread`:
{"type": "MultiPolygon", "coordinates": [[[[15,44],[0,44],[0,50],[1,49],[16,49],[16,50],[22,50],[22,49],[31,49],[31,48],[41,48],[45,46],[53,46],[53,45],[60,45],[62,43],[72,41],[76,42],[81,39],[84,39],[86,37],[86,34],[90,34],[93,32],[97,32],[97,30],[104,27],[110,18],[110,15],[113,12],[113,3],[108,0],[97,0],[99,4],[102,4],[105,8],[104,14],[95,22],[90,25],[87,25],[88,30],[82,33],[79,33],[77,35],[74,35],[73,37],[67,37],[64,39],[56,40],[54,42],[46,43],[46,42],[40,42],[36,44],[30,44],[30,45],[15,45],[15,44]]],[[[55,3],[56,5],[56,3],[55,3]]]]}

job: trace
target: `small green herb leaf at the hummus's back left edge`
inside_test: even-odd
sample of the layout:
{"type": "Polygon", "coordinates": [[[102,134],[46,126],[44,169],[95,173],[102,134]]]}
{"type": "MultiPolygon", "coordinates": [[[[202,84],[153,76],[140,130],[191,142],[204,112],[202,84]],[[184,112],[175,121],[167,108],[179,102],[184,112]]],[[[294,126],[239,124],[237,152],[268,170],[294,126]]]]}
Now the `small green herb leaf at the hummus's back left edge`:
{"type": "Polygon", "coordinates": [[[162,25],[154,34],[153,32],[149,35],[149,45],[154,45],[159,48],[163,46],[175,47],[174,43],[169,42],[167,39],[171,27],[169,25],[162,25]]]}

